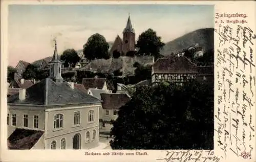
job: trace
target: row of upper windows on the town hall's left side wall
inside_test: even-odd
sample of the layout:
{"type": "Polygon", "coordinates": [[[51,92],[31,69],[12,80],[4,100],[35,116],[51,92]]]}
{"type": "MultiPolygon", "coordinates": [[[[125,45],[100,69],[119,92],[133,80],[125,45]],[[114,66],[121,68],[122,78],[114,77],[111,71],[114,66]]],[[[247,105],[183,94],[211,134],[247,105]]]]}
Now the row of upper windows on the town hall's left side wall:
{"type": "MultiPolygon", "coordinates": [[[[28,114],[24,114],[23,115],[23,127],[28,127],[28,119],[29,119],[28,114]]],[[[9,125],[9,121],[10,121],[10,115],[8,113],[7,114],[7,125],[9,125]]],[[[12,126],[16,126],[16,124],[17,124],[17,115],[15,113],[13,113],[12,114],[12,126]]],[[[33,127],[38,128],[38,125],[39,125],[39,115],[34,115],[33,127]]]]}

